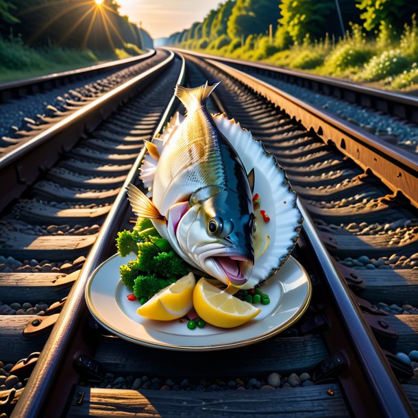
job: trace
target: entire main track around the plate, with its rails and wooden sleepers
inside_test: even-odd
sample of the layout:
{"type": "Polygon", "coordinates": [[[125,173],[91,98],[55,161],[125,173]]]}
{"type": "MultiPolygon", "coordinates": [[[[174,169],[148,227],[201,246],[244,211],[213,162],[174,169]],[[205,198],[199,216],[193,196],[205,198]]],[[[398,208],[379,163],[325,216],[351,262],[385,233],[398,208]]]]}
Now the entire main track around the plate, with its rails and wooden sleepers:
{"type": "Polygon", "coordinates": [[[416,160],[225,60],[157,54],[0,158],[0,413],[415,416],[413,365],[395,354],[418,349],[416,160]],[[313,295],[302,319],[262,343],[167,352],[110,335],[84,289],[129,228],[124,189],[137,182],[143,140],[179,109],[172,89],[205,79],[223,80],[211,110],[262,140],[297,190],[305,221],[293,256],[313,295]],[[250,390],[260,388],[270,390],[250,390]]]}

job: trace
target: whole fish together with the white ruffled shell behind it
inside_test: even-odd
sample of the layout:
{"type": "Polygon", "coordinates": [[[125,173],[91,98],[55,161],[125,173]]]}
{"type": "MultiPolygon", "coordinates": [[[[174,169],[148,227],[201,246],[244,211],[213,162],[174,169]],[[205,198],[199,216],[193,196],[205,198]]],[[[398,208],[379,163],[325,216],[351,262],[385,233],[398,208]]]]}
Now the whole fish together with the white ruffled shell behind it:
{"type": "Polygon", "coordinates": [[[186,116],[177,112],[145,141],[140,179],[147,192],[131,184],[128,199],[192,267],[228,288],[254,288],[286,262],[303,219],[275,157],[234,119],[208,111],[218,85],[176,86],[186,116]]]}

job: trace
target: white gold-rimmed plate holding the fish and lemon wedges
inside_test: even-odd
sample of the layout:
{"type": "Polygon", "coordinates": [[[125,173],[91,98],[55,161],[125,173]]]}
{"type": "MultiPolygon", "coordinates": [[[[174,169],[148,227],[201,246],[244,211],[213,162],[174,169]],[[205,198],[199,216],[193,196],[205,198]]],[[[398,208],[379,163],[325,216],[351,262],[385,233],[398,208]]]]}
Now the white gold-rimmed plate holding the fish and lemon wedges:
{"type": "MultiPolygon", "coordinates": [[[[218,328],[208,323],[204,328],[189,330],[186,322],[153,321],[140,317],[140,306],[127,299],[132,293],[121,282],[119,267],[135,256],[108,258],[93,272],[86,288],[90,312],[104,328],[148,347],[179,351],[201,351],[240,347],[265,340],[295,323],[308,308],[312,286],[308,274],[290,257],[262,291],[270,297],[269,305],[259,304],[260,314],[236,328],[218,328]]],[[[198,278],[196,278],[198,279],[198,278]]]]}

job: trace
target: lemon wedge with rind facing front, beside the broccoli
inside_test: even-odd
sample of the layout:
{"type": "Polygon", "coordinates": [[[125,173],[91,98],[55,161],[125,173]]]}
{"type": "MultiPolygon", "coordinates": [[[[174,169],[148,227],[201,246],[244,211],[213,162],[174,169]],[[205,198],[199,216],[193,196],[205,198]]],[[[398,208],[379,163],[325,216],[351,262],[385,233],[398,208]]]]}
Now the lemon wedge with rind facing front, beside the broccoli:
{"type": "Polygon", "coordinates": [[[136,312],[148,319],[171,321],[184,317],[193,308],[193,288],[196,280],[193,273],[188,273],[177,282],[159,291],[136,312]]]}

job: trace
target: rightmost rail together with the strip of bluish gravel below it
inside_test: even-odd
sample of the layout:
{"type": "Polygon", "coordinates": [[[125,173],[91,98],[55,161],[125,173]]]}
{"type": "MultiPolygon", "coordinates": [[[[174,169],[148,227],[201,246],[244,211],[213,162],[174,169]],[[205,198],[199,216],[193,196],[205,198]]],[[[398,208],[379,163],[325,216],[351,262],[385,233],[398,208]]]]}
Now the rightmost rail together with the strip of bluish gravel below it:
{"type": "MultiPolygon", "coordinates": [[[[179,52],[190,52],[173,49],[179,52]]],[[[363,131],[374,143],[395,145],[410,153],[418,152],[418,98],[380,90],[332,77],[322,77],[277,66],[193,53],[215,59],[234,69],[254,75],[283,93],[320,108],[332,119],[342,119],[353,130],[363,131]],[[364,132],[365,131],[365,132],[364,132]]]]}

